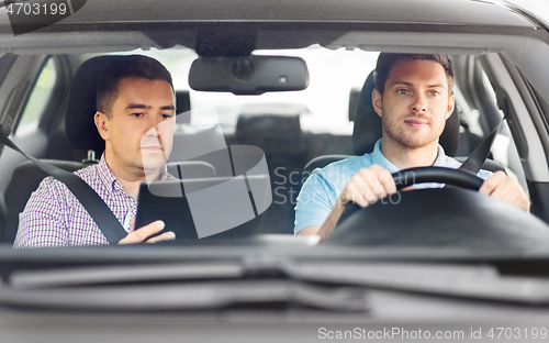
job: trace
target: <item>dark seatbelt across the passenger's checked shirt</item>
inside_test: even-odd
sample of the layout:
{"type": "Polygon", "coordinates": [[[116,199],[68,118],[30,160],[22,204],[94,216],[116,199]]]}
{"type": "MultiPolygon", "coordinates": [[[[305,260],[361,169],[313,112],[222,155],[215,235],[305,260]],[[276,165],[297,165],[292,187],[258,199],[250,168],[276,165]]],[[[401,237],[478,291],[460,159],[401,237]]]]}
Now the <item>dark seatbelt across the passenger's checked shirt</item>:
{"type": "Polygon", "coordinates": [[[46,174],[65,184],[91,215],[91,219],[93,219],[110,244],[117,244],[120,240],[127,235],[127,232],[116,217],[114,217],[107,203],[104,203],[103,199],[101,199],[93,188],[85,180],[70,172],[26,155],[2,132],[2,130],[0,130],[0,143],[21,153],[46,174]]]}

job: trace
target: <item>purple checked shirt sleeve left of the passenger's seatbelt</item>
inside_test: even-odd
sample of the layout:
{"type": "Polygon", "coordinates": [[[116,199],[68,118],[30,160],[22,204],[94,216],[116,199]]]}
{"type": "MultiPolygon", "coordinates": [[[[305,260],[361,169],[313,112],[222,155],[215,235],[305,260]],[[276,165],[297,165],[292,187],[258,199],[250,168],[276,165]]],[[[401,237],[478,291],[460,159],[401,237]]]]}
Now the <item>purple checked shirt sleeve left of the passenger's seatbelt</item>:
{"type": "Polygon", "coordinates": [[[66,204],[56,180],[47,177],[31,195],[19,214],[19,228],[13,247],[44,247],[68,245],[64,213],[66,204]]]}

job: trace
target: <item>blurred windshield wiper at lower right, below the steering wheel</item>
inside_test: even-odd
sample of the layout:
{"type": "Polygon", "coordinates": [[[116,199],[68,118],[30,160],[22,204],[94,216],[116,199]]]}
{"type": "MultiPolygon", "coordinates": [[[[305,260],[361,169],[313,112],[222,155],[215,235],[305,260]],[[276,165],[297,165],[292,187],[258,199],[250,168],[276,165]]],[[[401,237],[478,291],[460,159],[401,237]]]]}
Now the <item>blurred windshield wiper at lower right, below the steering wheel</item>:
{"type": "Polygon", "coordinates": [[[449,264],[324,264],[295,268],[301,279],[314,283],[419,292],[522,305],[549,305],[549,279],[503,276],[495,267],[449,264]]]}

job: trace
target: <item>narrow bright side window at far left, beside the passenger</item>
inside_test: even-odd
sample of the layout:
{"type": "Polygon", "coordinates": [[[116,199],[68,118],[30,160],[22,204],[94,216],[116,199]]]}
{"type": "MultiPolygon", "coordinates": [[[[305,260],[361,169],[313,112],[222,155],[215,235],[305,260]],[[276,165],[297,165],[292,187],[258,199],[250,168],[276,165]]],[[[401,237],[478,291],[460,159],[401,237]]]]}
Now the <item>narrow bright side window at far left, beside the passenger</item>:
{"type": "Polygon", "coordinates": [[[36,130],[42,113],[46,109],[48,100],[52,97],[55,80],[55,63],[54,59],[49,57],[42,68],[34,88],[31,90],[31,96],[20,112],[14,132],[15,136],[21,136],[36,130]]]}

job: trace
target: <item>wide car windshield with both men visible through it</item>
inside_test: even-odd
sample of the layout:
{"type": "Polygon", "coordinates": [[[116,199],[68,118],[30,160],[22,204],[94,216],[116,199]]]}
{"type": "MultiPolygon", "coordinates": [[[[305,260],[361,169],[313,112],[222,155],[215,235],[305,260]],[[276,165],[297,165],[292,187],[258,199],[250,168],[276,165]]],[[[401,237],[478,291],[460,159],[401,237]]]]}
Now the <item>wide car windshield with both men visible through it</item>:
{"type": "Polygon", "coordinates": [[[414,35],[72,16],[7,38],[2,242],[544,254],[547,44],[497,13],[509,31],[474,40],[475,18],[414,35]]]}

